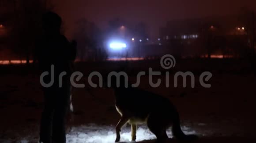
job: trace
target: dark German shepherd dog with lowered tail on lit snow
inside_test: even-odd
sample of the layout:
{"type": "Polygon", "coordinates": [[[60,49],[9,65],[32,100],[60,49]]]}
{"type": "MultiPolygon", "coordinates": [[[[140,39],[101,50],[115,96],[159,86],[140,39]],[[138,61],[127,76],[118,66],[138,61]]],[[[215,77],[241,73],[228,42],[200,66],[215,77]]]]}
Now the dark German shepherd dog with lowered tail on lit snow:
{"type": "Polygon", "coordinates": [[[132,128],[132,141],[136,141],[138,124],[147,127],[162,143],[168,139],[166,129],[172,126],[173,136],[178,140],[191,141],[196,135],[185,135],[181,130],[179,114],[169,99],[144,90],[124,86],[114,87],[116,108],[121,119],[116,126],[116,142],[120,141],[121,128],[128,122],[132,128]]]}

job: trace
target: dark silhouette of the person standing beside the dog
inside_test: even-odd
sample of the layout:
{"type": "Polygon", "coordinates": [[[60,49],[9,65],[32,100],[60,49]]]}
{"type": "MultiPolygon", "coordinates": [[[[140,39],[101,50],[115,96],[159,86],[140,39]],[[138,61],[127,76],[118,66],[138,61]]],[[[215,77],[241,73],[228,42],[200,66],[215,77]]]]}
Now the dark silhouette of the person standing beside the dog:
{"type": "Polygon", "coordinates": [[[62,20],[53,12],[43,15],[43,37],[38,43],[37,58],[41,72],[51,73],[54,65],[54,78],[50,75],[44,77],[49,83],[54,79],[51,87],[43,87],[45,107],[41,116],[40,142],[65,143],[65,116],[68,111],[70,99],[70,75],[72,63],[75,60],[75,42],[69,43],[65,36],[60,34],[62,20]],[[67,72],[62,78],[62,87],[59,86],[59,75],[67,72]]]}

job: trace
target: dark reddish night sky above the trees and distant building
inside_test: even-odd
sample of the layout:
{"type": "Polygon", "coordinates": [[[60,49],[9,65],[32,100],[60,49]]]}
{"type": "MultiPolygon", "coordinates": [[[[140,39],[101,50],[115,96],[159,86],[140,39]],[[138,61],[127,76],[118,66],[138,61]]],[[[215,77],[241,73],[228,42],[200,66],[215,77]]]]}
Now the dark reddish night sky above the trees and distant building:
{"type": "Polygon", "coordinates": [[[151,37],[166,21],[235,14],[241,7],[256,10],[255,0],[52,0],[63,17],[65,35],[73,37],[75,21],[86,18],[104,29],[112,18],[145,22],[151,37]]]}

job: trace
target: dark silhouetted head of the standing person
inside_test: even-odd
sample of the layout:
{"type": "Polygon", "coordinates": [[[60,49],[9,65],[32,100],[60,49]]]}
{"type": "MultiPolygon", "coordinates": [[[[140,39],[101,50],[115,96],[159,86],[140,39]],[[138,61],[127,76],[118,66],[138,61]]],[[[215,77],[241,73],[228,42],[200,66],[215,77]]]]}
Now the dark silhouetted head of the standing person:
{"type": "Polygon", "coordinates": [[[61,23],[61,17],[52,11],[48,11],[43,15],[43,30],[46,34],[60,33],[61,23]]]}

